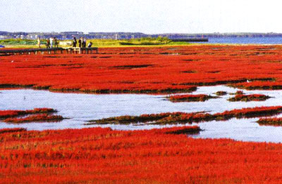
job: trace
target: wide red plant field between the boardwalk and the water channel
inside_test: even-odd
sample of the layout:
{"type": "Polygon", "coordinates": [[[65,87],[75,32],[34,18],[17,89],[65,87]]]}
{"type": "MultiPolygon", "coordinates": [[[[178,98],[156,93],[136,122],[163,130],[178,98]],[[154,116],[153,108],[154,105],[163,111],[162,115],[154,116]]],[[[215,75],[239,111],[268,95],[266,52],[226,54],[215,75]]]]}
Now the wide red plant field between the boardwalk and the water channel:
{"type": "Polygon", "coordinates": [[[281,53],[282,46],[202,45],[11,55],[0,58],[0,87],[85,93],[174,93],[216,84],[279,88],[281,53]]]}

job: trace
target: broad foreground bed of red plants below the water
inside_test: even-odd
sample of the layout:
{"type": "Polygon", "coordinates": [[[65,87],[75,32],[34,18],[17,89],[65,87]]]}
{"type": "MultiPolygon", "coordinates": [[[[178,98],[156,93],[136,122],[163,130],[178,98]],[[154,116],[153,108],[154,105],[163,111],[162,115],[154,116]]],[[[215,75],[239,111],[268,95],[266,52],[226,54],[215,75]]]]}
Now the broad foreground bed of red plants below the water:
{"type": "Polygon", "coordinates": [[[281,144],[170,133],[182,129],[1,133],[0,183],[281,183],[281,144]]]}

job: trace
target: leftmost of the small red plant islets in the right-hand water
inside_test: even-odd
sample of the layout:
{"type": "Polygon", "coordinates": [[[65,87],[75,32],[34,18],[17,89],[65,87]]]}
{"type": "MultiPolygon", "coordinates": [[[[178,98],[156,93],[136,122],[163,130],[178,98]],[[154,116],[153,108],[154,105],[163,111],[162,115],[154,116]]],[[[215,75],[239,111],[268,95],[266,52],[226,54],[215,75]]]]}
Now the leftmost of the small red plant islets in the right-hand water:
{"type": "Polygon", "coordinates": [[[204,94],[200,95],[177,95],[177,96],[168,96],[168,100],[172,101],[173,103],[178,102],[204,102],[211,98],[216,98],[214,96],[208,96],[204,94]]]}

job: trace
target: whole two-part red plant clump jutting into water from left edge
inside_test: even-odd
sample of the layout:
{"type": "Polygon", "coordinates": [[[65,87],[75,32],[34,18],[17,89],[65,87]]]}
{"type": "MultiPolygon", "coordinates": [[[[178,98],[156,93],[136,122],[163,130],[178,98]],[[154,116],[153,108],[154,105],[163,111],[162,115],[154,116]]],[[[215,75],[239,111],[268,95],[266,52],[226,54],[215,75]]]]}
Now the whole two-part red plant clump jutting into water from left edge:
{"type": "Polygon", "coordinates": [[[51,108],[35,108],[34,110],[0,110],[0,119],[6,123],[25,123],[34,121],[61,121],[63,117],[51,115],[57,112],[51,108]],[[28,115],[27,117],[22,117],[28,115]]]}

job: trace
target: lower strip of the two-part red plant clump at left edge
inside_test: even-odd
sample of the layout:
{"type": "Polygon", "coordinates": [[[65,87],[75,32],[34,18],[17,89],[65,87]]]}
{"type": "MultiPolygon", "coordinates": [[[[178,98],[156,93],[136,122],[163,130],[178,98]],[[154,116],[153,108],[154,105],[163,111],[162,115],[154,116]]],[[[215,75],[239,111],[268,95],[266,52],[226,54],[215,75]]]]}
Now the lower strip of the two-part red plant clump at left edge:
{"type": "Polygon", "coordinates": [[[55,121],[56,122],[56,121],[61,121],[61,120],[63,120],[63,117],[58,116],[58,115],[36,114],[36,115],[30,115],[28,117],[23,117],[23,118],[11,117],[11,118],[4,119],[4,122],[20,124],[20,123],[35,122],[35,121],[41,121],[41,122],[55,121]]]}

